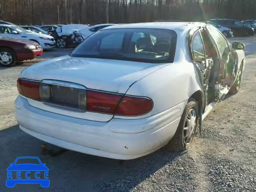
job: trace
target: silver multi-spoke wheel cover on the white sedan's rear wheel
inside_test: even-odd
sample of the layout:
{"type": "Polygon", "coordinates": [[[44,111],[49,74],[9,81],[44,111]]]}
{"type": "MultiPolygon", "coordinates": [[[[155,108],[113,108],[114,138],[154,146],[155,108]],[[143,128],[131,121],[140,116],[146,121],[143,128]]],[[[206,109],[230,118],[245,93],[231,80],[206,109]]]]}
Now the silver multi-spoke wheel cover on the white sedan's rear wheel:
{"type": "Polygon", "coordinates": [[[186,122],[183,128],[183,142],[185,145],[190,144],[196,130],[196,110],[190,109],[186,117],[186,122]]]}

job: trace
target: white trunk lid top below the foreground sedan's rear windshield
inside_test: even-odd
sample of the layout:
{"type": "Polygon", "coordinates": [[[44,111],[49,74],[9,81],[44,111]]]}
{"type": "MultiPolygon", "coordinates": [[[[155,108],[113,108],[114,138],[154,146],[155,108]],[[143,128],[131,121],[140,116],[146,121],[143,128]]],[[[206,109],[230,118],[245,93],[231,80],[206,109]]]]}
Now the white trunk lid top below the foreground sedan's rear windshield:
{"type": "Polygon", "coordinates": [[[63,56],[26,68],[20,78],[61,80],[124,94],[134,82],[166,65],[63,56]]]}

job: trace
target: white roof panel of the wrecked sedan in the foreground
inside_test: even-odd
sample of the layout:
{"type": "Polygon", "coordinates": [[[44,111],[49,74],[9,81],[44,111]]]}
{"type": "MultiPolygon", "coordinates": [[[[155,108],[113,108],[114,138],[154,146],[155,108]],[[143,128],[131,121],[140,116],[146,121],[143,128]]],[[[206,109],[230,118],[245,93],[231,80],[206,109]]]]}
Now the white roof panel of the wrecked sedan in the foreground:
{"type": "MultiPolygon", "coordinates": [[[[108,29],[120,28],[151,28],[151,29],[170,29],[174,31],[189,30],[194,27],[205,26],[201,22],[150,22],[150,23],[133,23],[133,24],[118,24],[109,26],[108,29]]],[[[102,29],[104,30],[104,29],[102,29]]]]}

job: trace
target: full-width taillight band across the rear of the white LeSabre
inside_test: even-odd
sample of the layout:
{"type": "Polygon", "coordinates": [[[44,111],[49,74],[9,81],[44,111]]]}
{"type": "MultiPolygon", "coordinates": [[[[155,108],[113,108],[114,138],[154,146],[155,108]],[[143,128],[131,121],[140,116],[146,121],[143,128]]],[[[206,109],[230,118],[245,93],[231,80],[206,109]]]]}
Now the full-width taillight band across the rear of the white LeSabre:
{"type": "MultiPolygon", "coordinates": [[[[20,78],[17,80],[18,92],[21,95],[35,100],[42,100],[48,103],[57,102],[59,105],[67,106],[66,100],[68,98],[63,98],[59,95],[55,95],[55,97],[58,96],[57,100],[55,97],[52,98],[54,86],[20,78]],[[65,102],[62,100],[65,100],[65,102]]],[[[72,102],[68,103],[68,107],[74,104],[74,102],[72,100],[72,102]]],[[[78,101],[76,102],[78,102],[79,109],[120,116],[143,115],[150,112],[153,108],[152,100],[147,97],[126,96],[94,90],[78,91],[78,101]]]]}

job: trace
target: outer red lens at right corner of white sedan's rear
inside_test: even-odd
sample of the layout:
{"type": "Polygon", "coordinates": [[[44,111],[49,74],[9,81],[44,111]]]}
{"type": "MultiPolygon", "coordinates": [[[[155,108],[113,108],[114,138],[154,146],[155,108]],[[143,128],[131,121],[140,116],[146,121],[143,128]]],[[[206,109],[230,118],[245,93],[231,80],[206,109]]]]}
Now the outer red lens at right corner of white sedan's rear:
{"type": "Polygon", "coordinates": [[[153,102],[150,98],[124,96],[116,110],[116,115],[138,116],[150,112],[153,102]]]}

